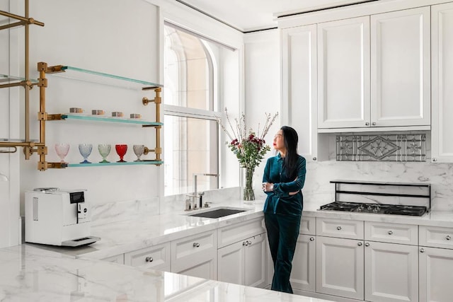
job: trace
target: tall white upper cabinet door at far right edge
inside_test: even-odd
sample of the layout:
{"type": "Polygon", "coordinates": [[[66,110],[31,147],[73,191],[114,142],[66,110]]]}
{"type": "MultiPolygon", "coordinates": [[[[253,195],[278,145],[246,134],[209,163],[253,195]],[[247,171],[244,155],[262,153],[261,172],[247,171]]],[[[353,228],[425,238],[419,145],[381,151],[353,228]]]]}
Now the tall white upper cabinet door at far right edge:
{"type": "Polygon", "coordinates": [[[432,161],[453,162],[453,3],[431,6],[432,161]]]}

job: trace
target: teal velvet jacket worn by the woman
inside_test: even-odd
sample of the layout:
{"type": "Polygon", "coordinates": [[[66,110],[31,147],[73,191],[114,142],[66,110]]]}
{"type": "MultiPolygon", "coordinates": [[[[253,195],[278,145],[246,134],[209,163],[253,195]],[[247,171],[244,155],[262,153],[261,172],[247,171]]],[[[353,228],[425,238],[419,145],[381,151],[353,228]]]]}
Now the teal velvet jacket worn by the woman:
{"type": "Polygon", "coordinates": [[[268,158],[264,168],[263,182],[274,184],[273,192],[265,192],[268,197],[264,204],[264,212],[285,215],[302,215],[304,207],[304,197],[302,187],[304,187],[306,174],[305,158],[299,156],[297,160],[297,179],[289,179],[283,169],[284,158],[277,156],[268,158]],[[299,192],[297,192],[299,191],[299,192]],[[297,194],[289,195],[289,192],[297,194]]]}

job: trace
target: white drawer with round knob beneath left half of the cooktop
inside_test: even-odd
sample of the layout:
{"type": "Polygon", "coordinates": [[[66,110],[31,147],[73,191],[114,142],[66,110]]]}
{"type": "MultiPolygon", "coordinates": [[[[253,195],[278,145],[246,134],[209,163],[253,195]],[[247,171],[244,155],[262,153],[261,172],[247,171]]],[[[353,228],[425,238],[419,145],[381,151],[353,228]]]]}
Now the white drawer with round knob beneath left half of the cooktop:
{"type": "Polygon", "coordinates": [[[316,219],[316,235],[363,239],[363,221],[344,219],[316,219]]]}

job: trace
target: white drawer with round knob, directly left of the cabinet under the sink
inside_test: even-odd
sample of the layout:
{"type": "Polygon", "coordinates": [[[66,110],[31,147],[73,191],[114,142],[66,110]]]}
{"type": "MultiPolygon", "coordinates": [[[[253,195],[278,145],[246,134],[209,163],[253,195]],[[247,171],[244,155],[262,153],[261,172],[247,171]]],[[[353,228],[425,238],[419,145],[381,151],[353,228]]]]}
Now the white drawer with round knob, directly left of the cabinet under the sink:
{"type": "Polygon", "coordinates": [[[209,231],[171,242],[172,272],[180,272],[214,258],[217,261],[217,231],[209,231]]]}

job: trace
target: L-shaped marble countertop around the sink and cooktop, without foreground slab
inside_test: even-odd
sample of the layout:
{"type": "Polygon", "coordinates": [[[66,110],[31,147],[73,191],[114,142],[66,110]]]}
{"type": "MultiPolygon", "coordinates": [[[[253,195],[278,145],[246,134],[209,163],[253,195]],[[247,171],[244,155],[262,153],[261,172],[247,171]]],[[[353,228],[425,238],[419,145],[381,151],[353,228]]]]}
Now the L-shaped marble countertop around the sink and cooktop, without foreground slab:
{"type": "MultiPolygon", "coordinates": [[[[188,216],[203,210],[181,211],[172,214],[149,216],[146,219],[134,219],[108,223],[91,228],[91,234],[101,238],[100,241],[84,248],[54,248],[40,245],[42,248],[64,252],[76,257],[88,257],[101,260],[107,257],[120,255],[125,252],[147,248],[151,245],[165,243],[170,240],[195,235],[204,231],[211,231],[222,226],[240,223],[263,216],[263,200],[256,204],[243,204],[240,200],[230,200],[215,207],[245,208],[239,214],[225,216],[219,219],[207,219],[188,216]]],[[[214,209],[215,207],[212,207],[214,209]]],[[[304,204],[302,216],[324,217],[332,219],[352,219],[362,221],[378,221],[388,223],[406,223],[424,226],[444,226],[453,228],[452,211],[431,211],[424,216],[402,216],[390,214],[363,214],[345,211],[319,211],[319,205],[304,204]]]]}

